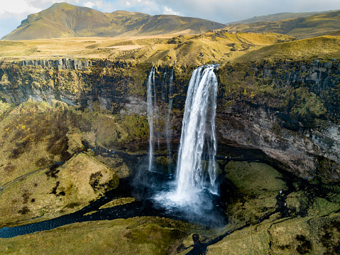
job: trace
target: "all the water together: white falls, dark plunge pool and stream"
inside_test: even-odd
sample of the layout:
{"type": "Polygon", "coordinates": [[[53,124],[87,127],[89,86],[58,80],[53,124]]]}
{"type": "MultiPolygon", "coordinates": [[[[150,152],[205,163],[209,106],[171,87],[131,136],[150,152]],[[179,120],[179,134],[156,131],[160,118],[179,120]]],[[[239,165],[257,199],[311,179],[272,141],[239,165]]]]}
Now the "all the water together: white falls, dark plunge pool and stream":
{"type": "MultiPolygon", "coordinates": [[[[217,80],[214,75],[214,66],[199,67],[192,73],[185,103],[175,181],[172,181],[170,175],[153,171],[155,107],[153,100],[155,100],[155,87],[154,91],[152,91],[152,87],[155,86],[154,74],[155,70],[152,68],[147,82],[148,124],[150,126],[149,166],[147,173],[143,173],[146,176],[141,178],[141,188],[138,188],[135,183],[136,192],[141,199],[128,205],[99,210],[101,205],[109,202],[117,193],[117,190],[112,190],[106,193],[102,199],[93,202],[92,205],[70,215],[36,224],[0,229],[0,238],[53,229],[73,222],[136,216],[170,217],[210,227],[221,227],[226,224],[224,212],[218,209],[219,197],[217,197],[215,184],[216,136],[214,119],[216,115],[217,80]],[[204,153],[204,151],[207,152],[204,153]],[[205,161],[202,161],[202,158],[205,161]],[[93,211],[98,212],[86,215],[87,212],[93,211]]],[[[165,126],[168,153],[171,153],[169,129],[172,110],[172,82],[173,71],[169,80],[168,115],[165,126]]],[[[128,183],[123,182],[124,180],[121,180],[119,187],[126,188],[128,183]]],[[[131,180],[127,182],[131,182],[131,180]]],[[[131,197],[131,194],[124,193],[122,197],[131,197]]]]}

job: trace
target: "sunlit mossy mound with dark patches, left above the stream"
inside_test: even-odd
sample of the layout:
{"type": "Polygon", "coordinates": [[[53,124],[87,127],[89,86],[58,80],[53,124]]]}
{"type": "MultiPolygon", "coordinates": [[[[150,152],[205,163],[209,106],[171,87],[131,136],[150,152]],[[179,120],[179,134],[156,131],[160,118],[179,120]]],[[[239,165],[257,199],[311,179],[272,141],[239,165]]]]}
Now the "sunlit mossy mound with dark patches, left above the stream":
{"type": "Polygon", "coordinates": [[[70,214],[119,184],[116,173],[80,153],[64,166],[50,167],[10,185],[0,194],[1,226],[70,214]]]}

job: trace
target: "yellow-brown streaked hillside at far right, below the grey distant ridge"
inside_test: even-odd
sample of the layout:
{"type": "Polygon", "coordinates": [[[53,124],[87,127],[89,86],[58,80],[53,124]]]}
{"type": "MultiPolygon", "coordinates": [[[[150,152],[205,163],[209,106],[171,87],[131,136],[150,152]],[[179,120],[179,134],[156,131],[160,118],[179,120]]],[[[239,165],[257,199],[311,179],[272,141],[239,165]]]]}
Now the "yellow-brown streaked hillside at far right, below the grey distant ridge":
{"type": "Polygon", "coordinates": [[[284,21],[240,23],[226,26],[229,32],[282,33],[298,38],[312,38],[340,30],[340,11],[318,14],[306,18],[290,18],[284,21]]]}

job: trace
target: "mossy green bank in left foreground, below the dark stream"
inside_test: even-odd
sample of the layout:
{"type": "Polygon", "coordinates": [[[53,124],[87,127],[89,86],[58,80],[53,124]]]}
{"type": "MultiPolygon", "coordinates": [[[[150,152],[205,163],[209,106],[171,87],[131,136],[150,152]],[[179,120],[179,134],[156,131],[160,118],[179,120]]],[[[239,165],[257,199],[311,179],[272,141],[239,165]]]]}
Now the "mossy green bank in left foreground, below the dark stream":
{"type": "Polygon", "coordinates": [[[82,222],[0,240],[1,254],[177,254],[190,224],[157,217],[82,222]]]}

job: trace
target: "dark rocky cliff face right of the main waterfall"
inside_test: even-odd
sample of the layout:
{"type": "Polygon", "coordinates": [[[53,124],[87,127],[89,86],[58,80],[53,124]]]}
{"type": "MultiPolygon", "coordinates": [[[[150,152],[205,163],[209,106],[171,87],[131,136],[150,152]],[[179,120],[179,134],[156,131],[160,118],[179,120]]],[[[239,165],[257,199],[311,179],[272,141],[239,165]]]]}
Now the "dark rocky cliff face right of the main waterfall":
{"type": "Polygon", "coordinates": [[[229,67],[239,85],[222,87],[219,135],[303,178],[339,180],[339,70],[317,60],[229,67]]]}

